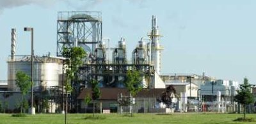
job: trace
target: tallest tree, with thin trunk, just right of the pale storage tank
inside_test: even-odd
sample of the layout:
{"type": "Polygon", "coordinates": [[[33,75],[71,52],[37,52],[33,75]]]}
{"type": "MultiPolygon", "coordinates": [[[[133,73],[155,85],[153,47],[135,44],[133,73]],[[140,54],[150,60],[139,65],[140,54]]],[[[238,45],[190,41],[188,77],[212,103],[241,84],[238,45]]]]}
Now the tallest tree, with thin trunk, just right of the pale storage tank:
{"type": "Polygon", "coordinates": [[[86,52],[84,52],[81,47],[63,48],[63,57],[65,57],[64,68],[66,72],[65,79],[65,90],[66,90],[66,107],[65,107],[65,123],[67,123],[67,101],[68,92],[73,90],[71,82],[77,79],[76,72],[79,66],[83,64],[83,59],[86,57],[86,52]]]}

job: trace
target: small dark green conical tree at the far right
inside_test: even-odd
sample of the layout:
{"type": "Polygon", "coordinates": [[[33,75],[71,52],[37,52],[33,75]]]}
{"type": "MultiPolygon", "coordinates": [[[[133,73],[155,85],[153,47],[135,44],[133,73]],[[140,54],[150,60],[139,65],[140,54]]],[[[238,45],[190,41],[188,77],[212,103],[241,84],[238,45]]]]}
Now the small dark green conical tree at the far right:
{"type": "Polygon", "coordinates": [[[252,104],[253,103],[253,95],[251,93],[251,86],[248,83],[248,79],[244,78],[244,83],[241,84],[240,90],[237,91],[237,95],[235,96],[235,101],[243,104],[244,106],[244,119],[245,119],[245,114],[246,114],[246,106],[248,104],[252,104]]]}

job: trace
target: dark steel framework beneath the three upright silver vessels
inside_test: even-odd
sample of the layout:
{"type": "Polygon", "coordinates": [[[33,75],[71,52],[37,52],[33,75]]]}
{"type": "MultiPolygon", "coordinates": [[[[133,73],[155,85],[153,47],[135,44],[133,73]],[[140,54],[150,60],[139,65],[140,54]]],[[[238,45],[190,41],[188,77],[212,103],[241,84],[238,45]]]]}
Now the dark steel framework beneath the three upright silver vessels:
{"type": "MultiPolygon", "coordinates": [[[[85,64],[79,67],[78,77],[81,81],[79,88],[90,88],[90,81],[103,77],[103,87],[118,87],[118,77],[126,78],[128,70],[138,70],[141,76],[154,77],[154,66],[149,64],[85,64]]],[[[148,78],[149,79],[149,78],[148,78]]],[[[148,81],[150,82],[150,81],[148,81]]],[[[148,83],[148,87],[152,88],[148,83]]]]}

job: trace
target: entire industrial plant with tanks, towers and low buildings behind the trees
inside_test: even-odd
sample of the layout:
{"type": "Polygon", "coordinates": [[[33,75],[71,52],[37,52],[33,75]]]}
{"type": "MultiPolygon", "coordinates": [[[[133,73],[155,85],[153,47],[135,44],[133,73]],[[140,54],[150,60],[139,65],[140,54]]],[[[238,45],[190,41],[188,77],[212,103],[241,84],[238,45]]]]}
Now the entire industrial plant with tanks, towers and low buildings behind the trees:
{"type": "MultiPolygon", "coordinates": [[[[138,38],[138,45],[129,52],[125,38],[120,38],[113,47],[110,46],[110,39],[102,37],[100,11],[60,11],[57,20],[56,56],[49,53],[42,57],[16,55],[17,32],[12,29],[11,55],[7,61],[8,85],[1,93],[13,93],[14,95],[7,98],[10,101],[18,98],[19,88],[15,85],[15,74],[17,71],[23,71],[29,76],[33,74],[32,92],[35,93],[36,112],[43,111],[42,99],[48,95],[49,113],[61,112],[65,106],[68,106],[69,112],[85,113],[87,109],[83,100],[86,94],[90,93],[92,79],[96,79],[102,92],[97,104],[99,113],[102,113],[103,109],[111,110],[111,113],[122,113],[125,108],[118,105],[118,99],[127,95],[124,85],[127,71],[137,69],[140,70],[141,85],[144,89],[138,93],[136,104],[133,105],[136,108],[133,111],[136,113],[161,111],[164,106],[163,103],[157,102],[157,99],[170,85],[177,91],[177,97],[172,98],[173,111],[237,111],[238,105],[234,102],[234,95],[238,90],[236,81],[215,79],[205,74],[162,74],[163,35],[159,31],[156,16],[152,16],[151,23],[148,24],[151,24],[150,32],[145,33],[148,38],[138,38]],[[72,83],[74,91],[68,93],[65,92],[63,83],[65,58],[61,53],[63,48],[77,46],[83,48],[87,56],[76,73],[79,79],[72,83]],[[127,54],[131,54],[131,58],[127,58],[127,54]],[[68,105],[63,104],[65,97],[68,97],[68,105]]],[[[14,104],[9,107],[13,109],[14,104]]]]}

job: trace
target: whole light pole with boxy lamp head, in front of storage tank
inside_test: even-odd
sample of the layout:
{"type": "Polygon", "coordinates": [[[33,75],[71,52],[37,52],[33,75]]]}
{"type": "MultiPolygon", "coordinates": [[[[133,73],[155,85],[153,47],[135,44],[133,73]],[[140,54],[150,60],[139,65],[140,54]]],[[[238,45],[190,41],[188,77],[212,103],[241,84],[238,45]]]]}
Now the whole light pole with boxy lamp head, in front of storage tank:
{"type": "Polygon", "coordinates": [[[34,45],[33,45],[33,27],[24,27],[24,31],[31,32],[31,114],[35,114],[35,109],[33,107],[33,64],[34,64],[34,45]]]}

